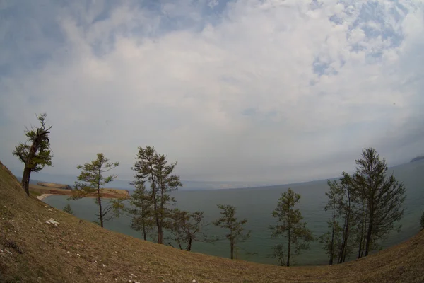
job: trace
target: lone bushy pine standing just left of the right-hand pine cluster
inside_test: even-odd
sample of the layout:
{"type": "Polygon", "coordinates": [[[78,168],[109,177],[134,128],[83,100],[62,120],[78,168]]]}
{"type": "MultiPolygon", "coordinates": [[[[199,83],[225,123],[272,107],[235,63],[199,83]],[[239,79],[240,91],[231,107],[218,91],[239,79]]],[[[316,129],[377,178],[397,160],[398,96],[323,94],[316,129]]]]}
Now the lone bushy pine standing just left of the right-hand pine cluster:
{"type": "Polygon", "coordinates": [[[278,258],[281,265],[290,266],[290,257],[299,255],[302,250],[309,249],[309,242],[314,240],[311,231],[306,228],[306,222],[302,221],[300,210],[294,209],[299,200],[300,195],[288,188],[287,192],[281,194],[277,207],[272,212],[272,216],[277,219],[278,224],[269,227],[272,231],[271,236],[273,238],[283,236],[287,240],[286,250],[282,245],[274,247],[273,255],[278,258]]]}

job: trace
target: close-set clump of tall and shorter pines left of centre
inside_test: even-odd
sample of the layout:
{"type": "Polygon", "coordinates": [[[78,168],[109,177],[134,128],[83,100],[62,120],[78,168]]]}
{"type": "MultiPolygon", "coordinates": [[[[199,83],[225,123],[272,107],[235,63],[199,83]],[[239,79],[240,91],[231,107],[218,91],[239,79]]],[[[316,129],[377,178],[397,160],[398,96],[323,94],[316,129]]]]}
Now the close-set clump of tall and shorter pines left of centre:
{"type": "Polygon", "coordinates": [[[158,154],[154,147],[139,146],[136,163],[132,168],[135,171],[132,184],[139,190],[137,199],[132,199],[132,204],[139,208],[137,211],[133,210],[137,217],[133,220],[133,224],[141,221],[141,227],[145,231],[151,224],[151,219],[154,219],[158,228],[158,243],[163,243],[163,229],[166,228],[167,219],[171,216],[167,205],[175,202],[170,192],[182,186],[179,176],[172,175],[175,166],[177,162],[167,165],[166,156],[158,154]],[[150,190],[147,190],[146,182],[150,183],[150,190]]]}

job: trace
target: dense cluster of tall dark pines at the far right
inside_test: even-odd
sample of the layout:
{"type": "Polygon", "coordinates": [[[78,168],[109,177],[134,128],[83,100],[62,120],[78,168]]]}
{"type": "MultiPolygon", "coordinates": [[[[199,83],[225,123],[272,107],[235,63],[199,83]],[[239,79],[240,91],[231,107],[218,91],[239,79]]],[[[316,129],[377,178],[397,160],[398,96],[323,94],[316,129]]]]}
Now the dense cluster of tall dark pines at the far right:
{"type": "Polygon", "coordinates": [[[358,247],[358,258],[367,256],[379,247],[378,241],[394,229],[404,214],[405,187],[393,174],[387,176],[386,161],[377,151],[367,148],[355,161],[355,174],[342,173],[340,183],[330,182],[329,202],[331,209],[329,231],[320,237],[329,255],[329,264],[345,262],[346,256],[358,247]]]}

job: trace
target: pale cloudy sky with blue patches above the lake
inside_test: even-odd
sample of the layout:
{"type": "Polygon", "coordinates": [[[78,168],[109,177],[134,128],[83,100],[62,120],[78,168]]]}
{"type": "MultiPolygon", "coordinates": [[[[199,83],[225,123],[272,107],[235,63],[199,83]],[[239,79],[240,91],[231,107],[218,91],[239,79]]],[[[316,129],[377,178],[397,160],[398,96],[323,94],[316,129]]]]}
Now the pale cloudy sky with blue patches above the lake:
{"type": "Polygon", "coordinates": [[[0,161],[47,112],[53,167],[138,146],[183,180],[294,183],[424,154],[423,1],[0,1],[0,161]]]}

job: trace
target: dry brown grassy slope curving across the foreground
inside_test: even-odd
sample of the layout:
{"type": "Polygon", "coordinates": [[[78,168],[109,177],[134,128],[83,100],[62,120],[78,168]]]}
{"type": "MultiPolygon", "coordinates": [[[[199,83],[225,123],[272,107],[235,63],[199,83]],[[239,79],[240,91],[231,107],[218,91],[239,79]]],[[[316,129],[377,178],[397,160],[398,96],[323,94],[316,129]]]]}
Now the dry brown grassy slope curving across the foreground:
{"type": "Polygon", "coordinates": [[[27,197],[16,178],[0,163],[0,282],[192,282],[193,279],[197,282],[424,282],[424,232],[375,255],[332,267],[278,267],[228,260],[141,241],[81,222],[35,197],[27,197]],[[59,221],[59,226],[46,224],[50,218],[59,221]]]}

